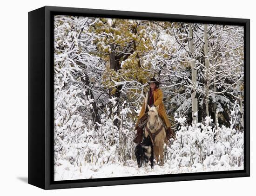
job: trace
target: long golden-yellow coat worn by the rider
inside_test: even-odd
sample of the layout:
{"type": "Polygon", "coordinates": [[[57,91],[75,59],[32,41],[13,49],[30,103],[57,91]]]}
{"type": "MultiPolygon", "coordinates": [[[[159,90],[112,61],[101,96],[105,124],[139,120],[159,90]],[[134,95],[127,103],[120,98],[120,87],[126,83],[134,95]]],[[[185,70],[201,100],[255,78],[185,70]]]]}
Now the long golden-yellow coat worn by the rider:
{"type": "MultiPolygon", "coordinates": [[[[162,97],[163,97],[162,90],[161,89],[155,89],[153,91],[153,97],[154,97],[154,105],[155,105],[155,107],[159,106],[159,108],[157,110],[158,114],[160,115],[160,117],[162,117],[162,119],[164,120],[164,122],[165,122],[165,124],[166,124],[166,126],[168,128],[169,126],[171,126],[171,123],[168,120],[168,116],[166,114],[165,107],[164,107],[163,102],[162,102],[162,97]]],[[[144,103],[143,103],[143,105],[141,107],[141,112],[140,112],[139,118],[138,118],[138,120],[136,122],[135,129],[137,129],[139,120],[145,114],[146,107],[148,107],[148,93],[147,93],[146,98],[144,100],[144,103]]]]}

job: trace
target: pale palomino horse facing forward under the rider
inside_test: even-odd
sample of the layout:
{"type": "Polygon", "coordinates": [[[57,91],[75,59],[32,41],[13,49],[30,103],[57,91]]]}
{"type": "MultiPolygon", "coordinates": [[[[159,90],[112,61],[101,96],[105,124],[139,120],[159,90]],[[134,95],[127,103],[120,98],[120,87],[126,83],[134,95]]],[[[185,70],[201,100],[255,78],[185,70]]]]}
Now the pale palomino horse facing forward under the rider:
{"type": "Polygon", "coordinates": [[[151,138],[155,158],[157,164],[163,165],[163,145],[166,137],[166,132],[164,130],[164,126],[162,125],[162,120],[159,118],[157,107],[149,107],[148,105],[148,122],[145,128],[145,137],[148,137],[148,134],[151,138]]]}

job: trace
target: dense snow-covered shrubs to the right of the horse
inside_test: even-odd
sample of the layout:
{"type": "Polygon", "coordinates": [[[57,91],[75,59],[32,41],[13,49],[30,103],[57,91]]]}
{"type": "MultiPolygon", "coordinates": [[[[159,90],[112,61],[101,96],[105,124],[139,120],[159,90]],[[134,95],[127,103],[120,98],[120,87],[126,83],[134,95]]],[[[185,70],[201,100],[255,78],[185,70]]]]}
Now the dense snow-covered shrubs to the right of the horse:
{"type": "Polygon", "coordinates": [[[176,140],[166,147],[165,160],[172,168],[190,167],[198,171],[202,166],[202,171],[218,171],[242,166],[243,133],[225,126],[211,127],[210,117],[192,126],[185,120],[186,117],[175,118],[181,126],[176,131],[176,140]]]}

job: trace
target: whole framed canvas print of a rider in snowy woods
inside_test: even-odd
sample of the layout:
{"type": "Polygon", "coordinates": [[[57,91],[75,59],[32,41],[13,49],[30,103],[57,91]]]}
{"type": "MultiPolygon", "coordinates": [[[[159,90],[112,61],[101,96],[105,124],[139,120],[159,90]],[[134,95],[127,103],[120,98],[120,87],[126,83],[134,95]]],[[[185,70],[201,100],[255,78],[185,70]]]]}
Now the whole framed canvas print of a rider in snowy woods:
{"type": "Polygon", "coordinates": [[[249,176],[249,19],[28,13],[28,183],[249,176]]]}

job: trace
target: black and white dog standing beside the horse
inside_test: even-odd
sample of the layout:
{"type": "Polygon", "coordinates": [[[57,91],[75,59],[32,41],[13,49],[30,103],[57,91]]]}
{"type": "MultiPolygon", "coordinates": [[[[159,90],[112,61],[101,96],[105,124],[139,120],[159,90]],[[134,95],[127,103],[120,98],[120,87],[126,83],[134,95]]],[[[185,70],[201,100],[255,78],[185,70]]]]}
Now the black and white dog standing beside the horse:
{"type": "Polygon", "coordinates": [[[153,168],[154,166],[154,152],[153,152],[153,144],[148,135],[147,138],[143,137],[141,144],[137,144],[135,147],[135,156],[138,162],[138,167],[141,167],[142,162],[148,163],[150,160],[150,166],[153,168]]]}

